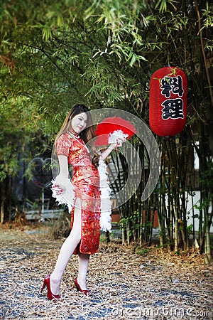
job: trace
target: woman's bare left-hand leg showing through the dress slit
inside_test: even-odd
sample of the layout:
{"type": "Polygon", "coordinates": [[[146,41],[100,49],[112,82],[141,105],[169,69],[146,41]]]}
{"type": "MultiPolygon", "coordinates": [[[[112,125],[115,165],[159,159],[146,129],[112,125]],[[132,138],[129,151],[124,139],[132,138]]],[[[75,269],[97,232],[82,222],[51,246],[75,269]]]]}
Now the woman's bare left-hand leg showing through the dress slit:
{"type": "Polygon", "coordinates": [[[59,294],[59,287],[60,282],[62,279],[62,275],[67,267],[67,263],[72,257],[72,253],[74,252],[75,248],[79,244],[81,240],[81,203],[80,199],[77,198],[75,206],[75,213],[74,213],[74,221],[72,230],[70,235],[67,237],[65,242],[62,244],[60,248],[60,252],[58,255],[58,260],[55,265],[55,269],[50,276],[50,288],[53,294],[59,294]]]}

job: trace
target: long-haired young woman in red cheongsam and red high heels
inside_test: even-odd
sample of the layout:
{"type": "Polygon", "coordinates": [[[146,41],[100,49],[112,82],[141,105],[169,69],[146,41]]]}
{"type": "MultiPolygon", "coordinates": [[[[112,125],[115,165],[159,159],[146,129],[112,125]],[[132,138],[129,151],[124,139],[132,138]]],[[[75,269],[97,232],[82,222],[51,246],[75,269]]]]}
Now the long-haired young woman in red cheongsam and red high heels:
{"type": "Polygon", "coordinates": [[[60,249],[55,269],[52,274],[45,277],[41,289],[42,292],[48,287],[48,299],[60,298],[60,282],[72,254],[77,254],[79,260],[75,287],[83,294],[90,293],[87,289],[89,255],[97,252],[100,236],[100,187],[97,166],[99,160],[104,161],[114,148],[124,142],[123,139],[119,139],[117,143],[110,144],[102,154],[95,154],[91,160],[93,151],[91,149],[89,152],[86,144],[88,145],[93,138],[94,128],[88,108],[84,105],[75,105],[67,114],[55,139],[60,165],[60,174],[55,179],[57,181],[55,193],[56,195],[73,193],[74,207],[71,212],[70,235],[60,249]],[[65,187],[67,184],[64,183],[69,177],[68,164],[72,164],[73,190],[71,188],[67,190],[65,187]]]}

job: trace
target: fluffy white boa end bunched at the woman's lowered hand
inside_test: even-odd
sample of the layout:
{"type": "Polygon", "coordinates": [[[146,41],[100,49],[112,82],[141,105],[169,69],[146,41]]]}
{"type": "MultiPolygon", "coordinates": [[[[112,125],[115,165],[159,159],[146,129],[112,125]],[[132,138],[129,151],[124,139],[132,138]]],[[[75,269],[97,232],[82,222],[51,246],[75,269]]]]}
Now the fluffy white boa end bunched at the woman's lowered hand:
{"type": "Polygon", "coordinates": [[[75,192],[74,192],[74,186],[69,178],[61,178],[60,176],[57,176],[55,180],[52,180],[52,186],[51,189],[53,191],[53,198],[58,201],[58,204],[65,204],[68,206],[69,212],[71,212],[72,207],[75,203],[75,192]],[[56,190],[59,186],[59,188],[62,188],[62,193],[58,194],[56,193],[56,190]]]}

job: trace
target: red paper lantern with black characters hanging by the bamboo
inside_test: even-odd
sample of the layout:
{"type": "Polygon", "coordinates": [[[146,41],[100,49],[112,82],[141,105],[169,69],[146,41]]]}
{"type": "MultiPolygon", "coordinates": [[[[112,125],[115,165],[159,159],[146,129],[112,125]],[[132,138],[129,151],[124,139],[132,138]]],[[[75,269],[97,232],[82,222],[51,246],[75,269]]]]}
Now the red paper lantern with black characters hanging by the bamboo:
{"type": "Polygon", "coordinates": [[[187,77],[175,67],[161,68],[150,82],[149,124],[160,137],[175,136],[185,127],[187,77]]]}

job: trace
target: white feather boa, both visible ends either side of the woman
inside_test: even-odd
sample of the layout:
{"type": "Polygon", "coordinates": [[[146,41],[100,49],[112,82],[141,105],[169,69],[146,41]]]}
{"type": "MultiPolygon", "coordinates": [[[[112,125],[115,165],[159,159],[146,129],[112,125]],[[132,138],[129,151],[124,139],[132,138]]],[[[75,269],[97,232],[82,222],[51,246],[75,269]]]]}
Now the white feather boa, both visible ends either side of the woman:
{"type": "MultiPolygon", "coordinates": [[[[99,160],[98,171],[101,191],[101,230],[111,232],[111,188],[109,188],[107,165],[103,160],[99,160]]],[[[57,176],[55,180],[52,181],[51,189],[53,191],[53,198],[58,201],[58,204],[67,205],[71,213],[72,207],[75,206],[75,186],[73,186],[70,179],[57,176]],[[58,188],[60,187],[63,190],[62,193],[58,192],[58,188]]]]}

